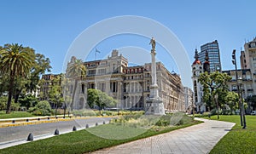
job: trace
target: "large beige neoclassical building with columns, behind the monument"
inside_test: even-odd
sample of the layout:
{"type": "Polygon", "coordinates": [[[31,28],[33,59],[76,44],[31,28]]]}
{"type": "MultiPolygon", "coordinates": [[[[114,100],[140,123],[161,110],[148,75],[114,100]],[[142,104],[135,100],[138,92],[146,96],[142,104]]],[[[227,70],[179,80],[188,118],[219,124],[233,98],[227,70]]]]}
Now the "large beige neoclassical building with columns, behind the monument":
{"type": "MultiPolygon", "coordinates": [[[[72,63],[75,57],[69,62],[72,63]]],[[[69,65],[67,64],[67,66],[69,65]]],[[[116,108],[126,110],[143,110],[151,85],[151,63],[143,66],[128,66],[128,60],[113,50],[104,60],[85,61],[87,74],[79,80],[74,90],[74,81],[69,83],[69,94],[76,91],[73,108],[82,109],[86,105],[87,89],[96,88],[118,100],[116,108]]],[[[163,99],[166,111],[185,111],[184,91],[181,78],[170,72],[161,63],[156,63],[159,95],[163,99]]]]}

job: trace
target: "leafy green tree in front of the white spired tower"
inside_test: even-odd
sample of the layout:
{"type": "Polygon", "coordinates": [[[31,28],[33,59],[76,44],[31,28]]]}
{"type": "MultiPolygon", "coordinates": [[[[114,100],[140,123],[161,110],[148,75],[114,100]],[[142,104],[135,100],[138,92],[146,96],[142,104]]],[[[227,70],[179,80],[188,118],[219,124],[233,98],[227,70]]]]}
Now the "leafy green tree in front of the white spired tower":
{"type": "MultiPolygon", "coordinates": [[[[228,90],[227,83],[231,80],[231,77],[226,73],[214,71],[210,74],[208,72],[201,73],[198,80],[203,86],[203,100],[208,103],[207,106],[211,109],[215,104],[215,95],[222,95],[222,93],[228,90]]],[[[223,98],[218,97],[218,100],[221,99],[223,98]]],[[[217,105],[216,107],[218,108],[217,105]]]]}

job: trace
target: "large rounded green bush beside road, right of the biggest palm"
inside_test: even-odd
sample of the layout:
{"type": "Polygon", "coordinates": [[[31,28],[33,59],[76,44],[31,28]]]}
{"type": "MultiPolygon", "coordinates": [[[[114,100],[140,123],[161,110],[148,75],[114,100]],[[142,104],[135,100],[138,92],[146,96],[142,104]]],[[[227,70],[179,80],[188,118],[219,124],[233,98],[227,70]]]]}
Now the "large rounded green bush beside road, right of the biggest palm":
{"type": "Polygon", "coordinates": [[[51,108],[50,108],[49,102],[46,100],[39,101],[35,107],[30,107],[28,110],[28,112],[32,112],[33,115],[37,115],[37,116],[49,116],[50,111],[51,111],[51,108]]]}

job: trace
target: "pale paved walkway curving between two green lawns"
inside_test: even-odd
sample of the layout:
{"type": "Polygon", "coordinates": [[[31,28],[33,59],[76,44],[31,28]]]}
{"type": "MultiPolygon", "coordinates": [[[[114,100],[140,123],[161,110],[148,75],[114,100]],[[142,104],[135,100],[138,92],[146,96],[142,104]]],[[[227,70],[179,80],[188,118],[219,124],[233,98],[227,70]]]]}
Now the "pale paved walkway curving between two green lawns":
{"type": "Polygon", "coordinates": [[[132,141],[123,145],[95,151],[94,153],[209,153],[235,123],[220,122],[196,118],[205,123],[197,124],[189,128],[182,128],[170,133],[160,134],[142,140],[132,141]]]}

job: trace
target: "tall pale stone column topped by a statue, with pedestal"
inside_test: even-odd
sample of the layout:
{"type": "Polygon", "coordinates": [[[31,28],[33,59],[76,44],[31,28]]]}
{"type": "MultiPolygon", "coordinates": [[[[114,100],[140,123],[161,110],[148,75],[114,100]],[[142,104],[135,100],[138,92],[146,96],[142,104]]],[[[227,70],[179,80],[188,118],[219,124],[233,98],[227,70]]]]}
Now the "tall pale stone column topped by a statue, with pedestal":
{"type": "Polygon", "coordinates": [[[150,95],[146,100],[146,113],[151,115],[165,115],[165,107],[163,100],[159,97],[158,94],[158,85],[156,78],[156,63],[155,63],[155,40],[152,37],[150,43],[152,45],[151,49],[151,77],[152,85],[150,86],[150,95]]]}

